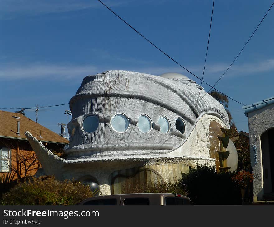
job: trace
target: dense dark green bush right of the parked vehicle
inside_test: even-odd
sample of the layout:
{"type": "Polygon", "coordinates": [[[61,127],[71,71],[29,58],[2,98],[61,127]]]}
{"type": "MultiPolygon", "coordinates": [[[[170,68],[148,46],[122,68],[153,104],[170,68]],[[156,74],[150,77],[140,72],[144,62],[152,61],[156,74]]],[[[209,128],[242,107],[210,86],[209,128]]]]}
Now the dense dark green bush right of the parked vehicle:
{"type": "Polygon", "coordinates": [[[241,193],[232,181],[232,174],[217,173],[215,166],[200,165],[189,167],[188,173],[181,173],[179,185],[186,187],[191,201],[196,205],[241,204],[241,193]]]}

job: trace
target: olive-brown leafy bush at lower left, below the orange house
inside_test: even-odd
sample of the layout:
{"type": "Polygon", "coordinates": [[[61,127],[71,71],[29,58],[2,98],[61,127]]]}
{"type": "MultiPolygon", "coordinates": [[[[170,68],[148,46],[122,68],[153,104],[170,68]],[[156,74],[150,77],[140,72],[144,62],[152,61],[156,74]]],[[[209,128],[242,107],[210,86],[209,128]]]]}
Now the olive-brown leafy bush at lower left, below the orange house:
{"type": "Polygon", "coordinates": [[[3,194],[2,205],[74,205],[92,197],[88,186],[53,176],[31,177],[3,194]]]}

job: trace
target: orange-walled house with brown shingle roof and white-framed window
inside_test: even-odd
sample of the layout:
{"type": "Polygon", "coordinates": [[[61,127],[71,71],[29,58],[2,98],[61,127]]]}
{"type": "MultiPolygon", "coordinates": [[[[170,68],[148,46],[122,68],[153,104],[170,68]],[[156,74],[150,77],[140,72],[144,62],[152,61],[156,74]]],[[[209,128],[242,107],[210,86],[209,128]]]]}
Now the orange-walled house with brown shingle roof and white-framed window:
{"type": "Polygon", "coordinates": [[[48,149],[60,151],[69,141],[20,113],[0,110],[0,174],[14,171],[15,178],[33,175],[40,163],[25,131],[48,149]]]}

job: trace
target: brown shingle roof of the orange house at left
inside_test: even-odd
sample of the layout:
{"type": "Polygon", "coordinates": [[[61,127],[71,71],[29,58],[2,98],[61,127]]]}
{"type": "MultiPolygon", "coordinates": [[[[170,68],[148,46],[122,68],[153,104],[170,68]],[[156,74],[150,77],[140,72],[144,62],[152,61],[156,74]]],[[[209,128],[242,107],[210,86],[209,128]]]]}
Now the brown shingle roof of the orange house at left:
{"type": "Polygon", "coordinates": [[[29,131],[40,141],[68,144],[69,141],[48,128],[32,121],[20,113],[0,110],[0,137],[27,140],[25,131],[29,131]],[[20,117],[20,119],[15,118],[20,117]],[[17,135],[17,121],[20,121],[20,135],[17,135]],[[40,136],[41,130],[41,137],[40,136]]]}

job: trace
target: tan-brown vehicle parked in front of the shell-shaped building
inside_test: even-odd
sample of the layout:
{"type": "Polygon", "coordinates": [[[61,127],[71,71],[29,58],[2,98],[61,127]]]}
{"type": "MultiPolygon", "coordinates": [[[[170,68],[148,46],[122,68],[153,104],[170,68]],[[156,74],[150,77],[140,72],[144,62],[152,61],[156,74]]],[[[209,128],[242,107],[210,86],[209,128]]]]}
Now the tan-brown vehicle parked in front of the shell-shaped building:
{"type": "Polygon", "coordinates": [[[181,194],[139,193],[95,196],[78,205],[191,205],[191,200],[181,194]]]}

